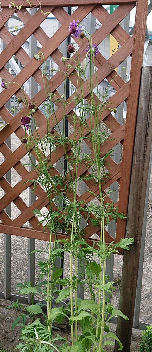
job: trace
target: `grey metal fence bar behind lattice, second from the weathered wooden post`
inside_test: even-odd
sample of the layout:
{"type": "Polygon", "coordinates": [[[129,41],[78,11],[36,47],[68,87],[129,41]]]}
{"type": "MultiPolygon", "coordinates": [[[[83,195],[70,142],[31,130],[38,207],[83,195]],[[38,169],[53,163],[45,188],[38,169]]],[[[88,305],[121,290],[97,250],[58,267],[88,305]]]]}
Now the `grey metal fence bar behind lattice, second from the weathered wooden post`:
{"type": "MultiPolygon", "coordinates": [[[[95,32],[95,29],[96,29],[96,18],[94,17],[94,15],[92,13],[89,13],[87,16],[87,31],[90,34],[93,34],[95,32]]],[[[94,67],[92,67],[92,71],[94,71],[94,67]]],[[[86,77],[89,78],[89,65],[86,70],[86,77]]],[[[89,117],[89,114],[88,114],[88,117],[89,117]]],[[[90,154],[90,148],[88,147],[88,145],[85,142],[83,142],[83,145],[82,145],[82,153],[86,153],[88,155],[90,154]]],[[[88,189],[88,187],[87,187],[86,183],[84,181],[81,181],[81,194],[83,194],[87,189],[88,189]]],[[[82,226],[82,228],[87,226],[87,221],[82,219],[81,226],[82,226]]],[[[79,272],[78,279],[83,280],[84,276],[85,276],[85,263],[83,261],[81,263],[81,266],[80,266],[80,262],[78,262],[78,272],[79,272]]],[[[77,296],[82,299],[84,298],[84,288],[82,285],[78,285],[77,296]]]]}

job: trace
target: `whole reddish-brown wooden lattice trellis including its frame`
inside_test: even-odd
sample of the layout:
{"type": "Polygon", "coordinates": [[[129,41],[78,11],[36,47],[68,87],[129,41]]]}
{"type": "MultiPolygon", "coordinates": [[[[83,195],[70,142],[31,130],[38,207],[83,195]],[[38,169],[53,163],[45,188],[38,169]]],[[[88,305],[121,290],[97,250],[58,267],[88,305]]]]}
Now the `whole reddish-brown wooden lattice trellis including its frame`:
{"type": "MultiPolygon", "coordinates": [[[[102,146],[102,155],[104,155],[110,149],[114,148],[119,142],[123,145],[123,159],[121,163],[117,165],[111,157],[108,157],[107,168],[110,176],[109,180],[103,186],[103,191],[115,181],[120,184],[119,201],[115,204],[115,206],[118,206],[118,210],[125,214],[127,213],[128,207],[129,184],[132,168],[135,124],[140,86],[140,73],[145,40],[147,3],[147,0],[56,0],[51,1],[50,5],[50,0],[43,0],[41,5],[42,10],[44,12],[51,11],[59,23],[61,23],[61,27],[51,38],[49,38],[40,27],[40,24],[44,21],[47,15],[42,15],[42,12],[39,8],[37,9],[36,13],[31,16],[30,12],[26,12],[25,9],[25,6],[27,7],[27,1],[16,0],[15,5],[19,6],[23,4],[23,7],[20,12],[17,12],[14,10],[14,8],[12,8],[11,13],[13,14],[16,12],[19,19],[24,23],[24,27],[14,38],[7,27],[4,26],[10,16],[9,1],[1,0],[1,15],[3,19],[0,18],[0,37],[7,46],[0,54],[0,76],[5,78],[5,81],[14,81],[19,83],[20,86],[22,86],[28,80],[28,78],[32,76],[41,87],[36,96],[32,97],[34,101],[38,102],[39,105],[45,100],[45,90],[43,87],[42,74],[39,69],[40,65],[43,63],[43,60],[41,59],[40,61],[36,61],[34,58],[30,58],[22,48],[22,45],[31,36],[31,34],[33,34],[38,42],[42,44],[41,50],[44,54],[44,58],[47,59],[49,56],[51,56],[59,68],[65,72],[67,67],[64,66],[61,62],[62,53],[59,51],[58,46],[69,35],[70,21],[77,19],[82,21],[91,12],[102,24],[102,26],[100,26],[92,36],[93,43],[98,45],[104,38],[106,38],[109,33],[111,33],[112,36],[121,44],[120,49],[108,60],[106,60],[101,53],[98,53],[95,57],[98,84],[102,82],[104,78],[107,78],[107,80],[110,82],[116,76],[115,68],[118,67],[118,65],[121,64],[129,55],[132,55],[130,81],[125,83],[120,76],[115,77],[113,79],[112,85],[116,90],[116,93],[112,96],[112,98],[110,98],[110,101],[113,103],[113,108],[118,107],[123,101],[127,102],[126,123],[121,126],[119,122],[113,117],[113,115],[109,114],[108,110],[105,110],[102,114],[103,122],[112,132],[110,138],[107,139],[107,141],[102,146]],[[102,6],[115,4],[115,2],[120,5],[112,14],[109,14],[107,10],[102,6]],[[78,7],[74,13],[69,16],[68,13],[64,10],[63,6],[78,7]],[[134,35],[130,37],[129,34],[121,27],[120,22],[135,6],[137,6],[137,8],[134,35]],[[24,12],[26,13],[24,14],[24,12]],[[15,55],[24,66],[24,68],[15,78],[12,77],[10,72],[5,67],[6,63],[13,55],[15,55]]],[[[37,0],[31,1],[31,4],[32,6],[39,7],[37,0]]],[[[78,49],[78,54],[79,60],[82,62],[86,55],[84,49],[86,48],[87,42],[86,39],[83,40],[83,42],[79,38],[75,38],[75,40],[80,47],[78,49]]],[[[77,61],[76,54],[74,54],[73,58],[75,58],[77,61]]],[[[74,69],[71,68],[69,70],[69,74],[71,74],[73,70],[74,69]]],[[[62,72],[57,72],[54,76],[51,77],[49,81],[50,92],[57,92],[59,85],[64,81],[64,77],[65,75],[62,72]]],[[[75,80],[75,75],[72,75],[71,81],[74,85],[76,84],[75,80]]],[[[93,84],[95,87],[95,75],[93,75],[93,84]]],[[[26,147],[24,144],[22,144],[14,152],[12,152],[5,143],[6,139],[11,136],[13,132],[19,139],[23,137],[23,128],[20,126],[22,112],[19,112],[17,115],[15,115],[15,117],[13,117],[10,111],[8,111],[5,107],[6,102],[12,97],[13,94],[15,94],[17,97],[19,97],[21,94],[17,84],[13,83],[9,84],[9,89],[2,91],[0,94],[0,116],[6,123],[9,123],[9,125],[7,125],[4,130],[0,132],[0,151],[5,157],[5,161],[0,166],[0,187],[6,193],[0,201],[0,231],[2,233],[15,234],[29,238],[49,240],[49,233],[43,233],[42,225],[38,225],[38,219],[32,213],[34,208],[42,209],[45,206],[47,209],[49,209],[48,198],[46,197],[45,191],[38,185],[35,189],[35,194],[38,199],[29,207],[20,197],[20,194],[25,189],[28,187],[31,189],[33,188],[32,182],[30,183],[27,181],[36,178],[36,172],[34,170],[28,172],[28,170],[25,168],[25,166],[22,165],[20,161],[21,158],[23,158],[26,154],[26,147]],[[21,177],[21,181],[19,181],[14,187],[12,187],[4,177],[4,175],[11,168],[14,168],[21,177]],[[14,220],[12,220],[4,210],[11,202],[14,202],[15,206],[17,206],[21,212],[21,214],[14,220]],[[23,226],[26,221],[29,221],[32,227],[23,226]]],[[[26,95],[26,97],[28,101],[31,100],[28,95],[26,95]]],[[[84,85],[84,98],[86,100],[89,99],[87,84],[84,85]]],[[[95,95],[94,99],[96,99],[95,95]]],[[[67,114],[67,119],[72,125],[71,115],[75,102],[71,101],[71,97],[68,99],[68,101],[70,101],[70,104],[66,105],[64,114],[67,114]]],[[[59,122],[62,120],[63,107],[59,102],[56,102],[56,104],[56,117],[59,122]]],[[[23,111],[26,111],[25,107],[23,107],[23,111]]],[[[37,109],[35,118],[37,124],[39,125],[39,136],[44,137],[46,133],[46,119],[40,109],[37,109]]],[[[78,124],[79,122],[77,122],[77,127],[78,124]]],[[[90,124],[90,118],[88,118],[88,124],[90,124]]],[[[52,128],[52,120],[50,121],[50,125],[52,128]]],[[[56,125],[55,120],[54,125],[56,125]]],[[[86,135],[87,131],[84,127],[83,136],[85,137],[86,135]]],[[[72,133],[69,137],[74,138],[74,133],[72,133]]],[[[93,149],[89,139],[85,139],[85,143],[88,144],[91,150],[93,149]]],[[[69,152],[70,155],[70,145],[67,147],[67,152],[69,152]]],[[[35,157],[34,150],[31,150],[31,153],[35,157]]],[[[59,157],[64,155],[64,150],[61,147],[59,148],[58,154],[59,157]]],[[[90,156],[93,157],[93,151],[90,153],[90,156]]],[[[56,163],[57,160],[57,154],[52,151],[52,164],[56,163]]],[[[53,168],[52,170],[54,174],[59,174],[57,169],[53,168]]],[[[78,176],[84,172],[86,172],[86,174],[89,172],[85,165],[78,169],[78,176]]],[[[90,180],[86,180],[85,182],[89,187],[89,190],[96,193],[96,195],[99,194],[98,185],[90,180]]],[[[77,199],[78,201],[82,201],[82,205],[85,206],[84,202],[88,203],[93,199],[93,197],[94,196],[91,193],[84,192],[84,194],[81,196],[77,196],[77,199]]],[[[119,241],[120,238],[125,237],[125,228],[126,220],[122,221],[118,219],[116,226],[116,241],[119,241]]],[[[88,243],[92,243],[93,238],[90,237],[94,233],[100,233],[100,228],[93,227],[92,223],[88,220],[88,225],[85,227],[85,237],[88,243]]],[[[66,235],[63,233],[58,233],[57,238],[66,238],[66,235]]],[[[106,230],[106,243],[110,243],[112,240],[112,236],[106,230]]]]}

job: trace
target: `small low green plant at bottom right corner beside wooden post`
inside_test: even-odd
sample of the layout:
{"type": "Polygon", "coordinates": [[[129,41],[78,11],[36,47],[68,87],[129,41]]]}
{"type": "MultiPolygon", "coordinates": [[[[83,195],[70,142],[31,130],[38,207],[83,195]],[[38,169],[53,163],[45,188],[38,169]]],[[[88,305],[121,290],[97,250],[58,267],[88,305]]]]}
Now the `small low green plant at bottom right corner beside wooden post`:
{"type": "Polygon", "coordinates": [[[146,330],[141,332],[139,343],[140,352],[152,352],[152,325],[146,326],[146,330]]]}

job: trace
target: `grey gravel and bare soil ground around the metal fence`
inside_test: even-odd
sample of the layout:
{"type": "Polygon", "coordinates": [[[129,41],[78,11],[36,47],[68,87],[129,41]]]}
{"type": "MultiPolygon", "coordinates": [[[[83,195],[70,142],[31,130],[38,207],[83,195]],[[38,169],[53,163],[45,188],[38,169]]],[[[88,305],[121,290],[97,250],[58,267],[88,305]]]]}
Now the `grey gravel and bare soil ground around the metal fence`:
{"type": "MultiPolygon", "coordinates": [[[[24,132],[23,132],[24,136],[24,132]]],[[[11,137],[11,149],[14,151],[21,144],[21,142],[13,134],[11,137]]],[[[2,162],[3,157],[0,156],[0,161],[2,162]]],[[[23,163],[28,163],[28,158],[25,156],[22,160],[23,163]]],[[[28,166],[26,166],[28,168],[28,166]]],[[[13,169],[12,170],[12,185],[20,180],[20,176],[13,169]]],[[[3,191],[0,192],[0,197],[3,196],[3,191]]],[[[22,199],[28,205],[28,190],[21,194],[22,199]]],[[[150,202],[152,200],[152,173],[150,181],[150,202]]],[[[44,208],[46,209],[46,208],[44,208]]],[[[12,204],[12,219],[16,218],[20,214],[18,208],[12,204]]],[[[25,224],[27,225],[27,224],[25,224]]],[[[141,308],[140,308],[140,321],[146,323],[152,323],[152,217],[147,220],[146,228],[146,242],[145,242],[145,256],[144,256],[144,269],[143,269],[143,279],[142,279],[142,294],[141,294],[141,308]]],[[[36,249],[41,249],[46,246],[45,241],[36,240],[36,249]]],[[[0,235],[0,291],[4,291],[4,234],[0,235]]],[[[116,307],[119,304],[119,293],[121,284],[121,270],[122,270],[122,260],[121,256],[114,256],[114,281],[116,290],[113,293],[113,303],[116,307]]],[[[36,278],[38,276],[37,260],[39,259],[39,254],[36,254],[36,278]]],[[[43,258],[43,254],[41,254],[43,258]]],[[[66,253],[64,257],[64,276],[69,276],[69,256],[66,253]]],[[[128,273],[129,275],[129,273],[128,273]]],[[[18,294],[18,289],[15,285],[18,282],[24,282],[28,277],[28,239],[12,236],[11,238],[11,293],[18,294]]],[[[87,296],[86,296],[87,297],[87,296]]],[[[15,333],[10,333],[11,324],[14,319],[13,314],[19,314],[18,312],[12,313],[12,310],[7,310],[6,305],[10,304],[7,301],[0,300],[0,343],[5,347],[14,346],[17,343],[19,333],[16,337],[15,333]],[[11,312],[11,313],[10,313],[11,312]],[[14,339],[14,340],[13,340],[14,339]],[[13,340],[11,342],[11,340],[13,340]]],[[[115,325],[112,326],[115,329],[115,325]]],[[[132,335],[132,347],[131,352],[138,351],[138,341],[140,332],[133,329],[132,335]]],[[[107,349],[107,352],[114,351],[112,347],[107,349]]]]}

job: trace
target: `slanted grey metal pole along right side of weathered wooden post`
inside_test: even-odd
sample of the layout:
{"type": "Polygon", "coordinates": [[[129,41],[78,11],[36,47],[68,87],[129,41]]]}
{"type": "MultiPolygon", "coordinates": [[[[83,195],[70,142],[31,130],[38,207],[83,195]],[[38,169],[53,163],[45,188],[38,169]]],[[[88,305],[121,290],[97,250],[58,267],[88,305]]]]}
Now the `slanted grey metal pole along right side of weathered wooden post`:
{"type": "Polygon", "coordinates": [[[134,318],[133,318],[133,327],[134,328],[139,325],[139,316],[140,316],[142,275],[143,275],[143,266],[144,266],[144,251],[145,251],[145,237],[146,237],[147,208],[148,208],[148,198],[149,198],[149,188],[150,188],[151,163],[152,163],[152,146],[151,146],[150,164],[149,164],[149,170],[148,170],[148,179],[147,179],[144,219],[143,219],[143,226],[142,226],[138,281],[137,281],[135,309],[134,309],[134,318]]]}

